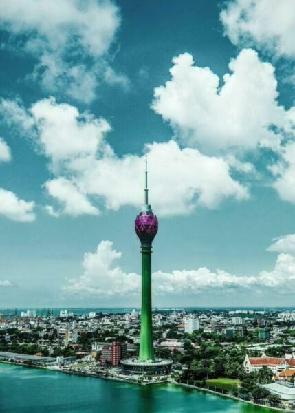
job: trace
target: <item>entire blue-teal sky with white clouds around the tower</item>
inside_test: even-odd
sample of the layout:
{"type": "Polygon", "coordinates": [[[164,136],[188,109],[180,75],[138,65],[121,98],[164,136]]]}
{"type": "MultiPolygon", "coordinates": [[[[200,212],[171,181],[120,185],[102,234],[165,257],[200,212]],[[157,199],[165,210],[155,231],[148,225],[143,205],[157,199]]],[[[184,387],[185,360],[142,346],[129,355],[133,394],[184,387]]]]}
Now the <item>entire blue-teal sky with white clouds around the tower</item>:
{"type": "Polygon", "coordinates": [[[294,0],[0,0],[0,308],[292,306],[294,0]]]}

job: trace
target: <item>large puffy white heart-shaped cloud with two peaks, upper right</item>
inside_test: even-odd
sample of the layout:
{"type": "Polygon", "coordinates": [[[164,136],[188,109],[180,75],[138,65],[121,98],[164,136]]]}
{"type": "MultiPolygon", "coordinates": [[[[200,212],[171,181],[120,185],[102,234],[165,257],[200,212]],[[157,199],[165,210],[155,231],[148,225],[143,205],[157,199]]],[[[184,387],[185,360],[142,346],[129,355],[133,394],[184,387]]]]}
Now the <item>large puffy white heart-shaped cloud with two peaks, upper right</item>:
{"type": "Polygon", "coordinates": [[[175,57],[171,80],[155,88],[152,108],[182,142],[210,153],[277,149],[280,131],[292,119],[277,103],[274,67],[244,49],[229,68],[221,85],[210,68],[194,65],[190,54],[175,57]]]}

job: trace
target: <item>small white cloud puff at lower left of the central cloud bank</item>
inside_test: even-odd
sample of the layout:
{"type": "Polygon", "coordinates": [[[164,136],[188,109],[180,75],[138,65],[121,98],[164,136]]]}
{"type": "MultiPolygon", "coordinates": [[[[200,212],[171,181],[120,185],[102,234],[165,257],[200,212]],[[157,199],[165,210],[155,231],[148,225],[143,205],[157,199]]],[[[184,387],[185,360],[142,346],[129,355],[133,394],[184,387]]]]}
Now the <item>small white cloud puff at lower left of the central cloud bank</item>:
{"type": "MultiPolygon", "coordinates": [[[[63,213],[77,217],[79,215],[98,215],[99,211],[87,199],[87,196],[79,191],[75,184],[65,178],[56,178],[47,181],[45,187],[48,193],[63,205],[63,213]]],[[[54,209],[47,206],[50,215],[58,216],[54,209]]]]}

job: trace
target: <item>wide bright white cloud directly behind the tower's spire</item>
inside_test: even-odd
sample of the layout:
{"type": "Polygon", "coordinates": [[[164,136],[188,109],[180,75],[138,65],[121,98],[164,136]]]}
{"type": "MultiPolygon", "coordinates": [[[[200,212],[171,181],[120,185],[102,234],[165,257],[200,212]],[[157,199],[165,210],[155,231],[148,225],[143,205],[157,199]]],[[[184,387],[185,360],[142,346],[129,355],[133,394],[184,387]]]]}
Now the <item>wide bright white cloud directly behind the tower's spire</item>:
{"type": "MultiPolygon", "coordinates": [[[[146,153],[150,198],[158,215],[188,215],[197,205],[215,208],[228,197],[249,198],[248,189],[231,178],[230,168],[221,158],[204,156],[197,149],[181,149],[172,140],[146,145],[146,153]]],[[[140,207],[143,166],[143,156],[105,156],[83,169],[79,185],[85,193],[104,199],[108,209],[140,207]]]]}

